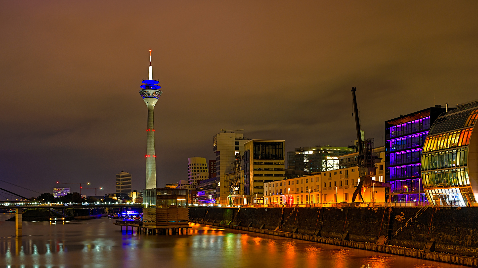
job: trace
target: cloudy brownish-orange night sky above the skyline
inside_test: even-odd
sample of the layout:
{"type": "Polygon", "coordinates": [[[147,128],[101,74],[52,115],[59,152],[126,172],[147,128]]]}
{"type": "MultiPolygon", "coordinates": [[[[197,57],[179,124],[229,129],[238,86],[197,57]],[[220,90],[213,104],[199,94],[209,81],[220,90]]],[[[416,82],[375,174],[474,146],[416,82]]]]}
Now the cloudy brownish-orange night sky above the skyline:
{"type": "Polygon", "coordinates": [[[144,188],[150,49],[158,187],[187,179],[188,157],[213,159],[221,128],[287,151],[347,146],[352,86],[380,145],[385,120],[478,99],[477,14],[477,1],[1,1],[0,179],[103,195],[124,169],[144,188]]]}

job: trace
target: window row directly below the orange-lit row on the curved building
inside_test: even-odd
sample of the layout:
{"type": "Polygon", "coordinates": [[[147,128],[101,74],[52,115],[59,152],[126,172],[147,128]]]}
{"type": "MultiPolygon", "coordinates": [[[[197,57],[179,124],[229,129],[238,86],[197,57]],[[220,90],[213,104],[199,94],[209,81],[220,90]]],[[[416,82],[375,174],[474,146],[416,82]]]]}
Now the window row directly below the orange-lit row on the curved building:
{"type": "Polygon", "coordinates": [[[464,166],[467,162],[468,148],[426,154],[422,157],[422,170],[464,166]]]}

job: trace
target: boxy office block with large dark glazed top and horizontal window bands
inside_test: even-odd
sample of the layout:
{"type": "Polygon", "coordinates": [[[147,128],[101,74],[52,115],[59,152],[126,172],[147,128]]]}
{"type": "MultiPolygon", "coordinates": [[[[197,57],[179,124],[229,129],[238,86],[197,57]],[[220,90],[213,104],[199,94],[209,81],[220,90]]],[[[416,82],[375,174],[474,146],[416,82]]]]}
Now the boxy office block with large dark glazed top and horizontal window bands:
{"type": "Polygon", "coordinates": [[[264,203],[264,183],[283,180],[283,140],[250,140],[244,144],[244,194],[250,204],[264,203]]]}

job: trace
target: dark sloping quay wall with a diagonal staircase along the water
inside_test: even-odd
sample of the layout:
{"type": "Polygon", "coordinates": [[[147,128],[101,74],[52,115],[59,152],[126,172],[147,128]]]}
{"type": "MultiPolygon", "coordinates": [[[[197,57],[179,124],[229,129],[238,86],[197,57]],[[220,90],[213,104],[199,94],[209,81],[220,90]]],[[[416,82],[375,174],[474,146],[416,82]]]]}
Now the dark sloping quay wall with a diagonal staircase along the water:
{"type": "Polygon", "coordinates": [[[219,227],[478,267],[478,208],[428,207],[404,226],[420,209],[190,207],[189,218],[219,227]],[[392,234],[383,244],[383,237],[392,234]]]}

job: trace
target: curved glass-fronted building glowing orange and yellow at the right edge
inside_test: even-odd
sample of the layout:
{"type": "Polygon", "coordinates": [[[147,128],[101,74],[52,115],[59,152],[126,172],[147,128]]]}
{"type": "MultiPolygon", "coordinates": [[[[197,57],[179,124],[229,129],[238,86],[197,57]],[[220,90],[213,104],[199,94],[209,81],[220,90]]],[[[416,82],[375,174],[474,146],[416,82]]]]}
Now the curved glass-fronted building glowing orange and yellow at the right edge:
{"type": "Polygon", "coordinates": [[[478,198],[478,101],[440,114],[422,152],[422,179],[435,205],[466,206],[478,198]]]}

